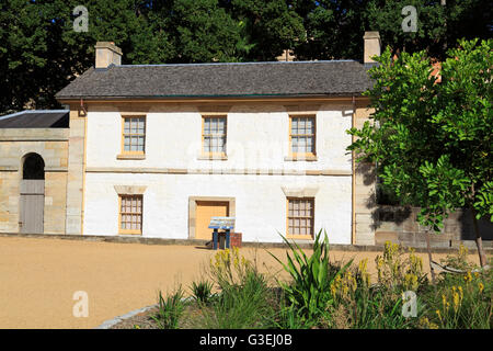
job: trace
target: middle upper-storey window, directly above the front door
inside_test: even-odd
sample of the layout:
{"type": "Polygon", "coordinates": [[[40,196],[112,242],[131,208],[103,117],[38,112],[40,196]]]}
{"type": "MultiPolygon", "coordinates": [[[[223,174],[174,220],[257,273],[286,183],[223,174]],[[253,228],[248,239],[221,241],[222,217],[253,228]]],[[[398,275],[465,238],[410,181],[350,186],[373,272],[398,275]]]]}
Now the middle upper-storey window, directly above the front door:
{"type": "Polygon", "coordinates": [[[226,116],[203,116],[203,154],[226,156],[226,116]]]}

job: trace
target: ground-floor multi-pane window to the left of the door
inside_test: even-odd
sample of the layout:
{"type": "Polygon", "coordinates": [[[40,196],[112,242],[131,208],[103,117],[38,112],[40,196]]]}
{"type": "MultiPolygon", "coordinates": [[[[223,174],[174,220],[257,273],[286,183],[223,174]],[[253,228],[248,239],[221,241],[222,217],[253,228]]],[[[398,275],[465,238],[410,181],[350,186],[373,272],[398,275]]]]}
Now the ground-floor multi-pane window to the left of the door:
{"type": "Polygon", "coordinates": [[[119,233],[142,234],[142,195],[119,195],[119,233]]]}

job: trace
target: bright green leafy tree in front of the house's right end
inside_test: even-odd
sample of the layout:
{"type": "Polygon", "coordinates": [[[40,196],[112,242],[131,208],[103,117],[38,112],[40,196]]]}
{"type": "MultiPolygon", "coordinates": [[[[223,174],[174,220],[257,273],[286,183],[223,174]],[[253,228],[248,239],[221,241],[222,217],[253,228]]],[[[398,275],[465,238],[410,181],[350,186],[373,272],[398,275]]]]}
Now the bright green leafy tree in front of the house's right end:
{"type": "Polygon", "coordinates": [[[493,222],[493,41],[460,41],[431,75],[425,52],[390,48],[376,58],[366,92],[370,122],[348,134],[358,161],[377,163],[378,176],[403,205],[420,206],[419,222],[435,233],[458,207],[470,208],[481,265],[486,264],[477,220],[493,222]]]}

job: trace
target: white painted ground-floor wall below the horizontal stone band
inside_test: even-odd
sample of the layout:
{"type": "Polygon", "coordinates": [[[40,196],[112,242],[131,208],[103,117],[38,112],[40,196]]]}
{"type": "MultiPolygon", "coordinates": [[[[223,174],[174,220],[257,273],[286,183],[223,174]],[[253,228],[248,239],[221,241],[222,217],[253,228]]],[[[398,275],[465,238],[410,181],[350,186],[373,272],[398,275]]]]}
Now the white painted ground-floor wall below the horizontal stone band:
{"type": "Polygon", "coordinates": [[[282,186],[318,186],[316,233],[324,228],[333,244],[351,244],[351,177],[127,174],[85,176],[84,235],[117,235],[118,194],[114,185],[147,185],[145,237],[186,239],[188,199],[236,199],[236,231],[244,241],[280,241],[286,234],[286,196],[282,186]]]}

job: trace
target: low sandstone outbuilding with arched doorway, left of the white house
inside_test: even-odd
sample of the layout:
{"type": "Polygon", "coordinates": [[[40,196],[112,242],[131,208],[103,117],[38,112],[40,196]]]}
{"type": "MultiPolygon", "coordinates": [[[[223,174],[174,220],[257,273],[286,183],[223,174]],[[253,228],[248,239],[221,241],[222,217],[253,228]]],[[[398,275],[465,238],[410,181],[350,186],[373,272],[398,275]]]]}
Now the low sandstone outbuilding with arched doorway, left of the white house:
{"type": "Polygon", "coordinates": [[[0,233],[65,234],[68,115],[0,117],[0,233]]]}

